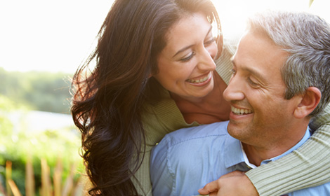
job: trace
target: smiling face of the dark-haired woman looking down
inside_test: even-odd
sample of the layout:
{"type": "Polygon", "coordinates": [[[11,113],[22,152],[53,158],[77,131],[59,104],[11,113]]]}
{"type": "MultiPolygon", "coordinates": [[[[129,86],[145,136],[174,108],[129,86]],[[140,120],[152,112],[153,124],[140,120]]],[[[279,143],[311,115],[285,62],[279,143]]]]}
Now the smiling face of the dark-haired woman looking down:
{"type": "Polygon", "coordinates": [[[186,15],[169,29],[166,40],[153,77],[172,94],[185,99],[205,97],[213,90],[213,58],[218,52],[206,16],[186,15]]]}

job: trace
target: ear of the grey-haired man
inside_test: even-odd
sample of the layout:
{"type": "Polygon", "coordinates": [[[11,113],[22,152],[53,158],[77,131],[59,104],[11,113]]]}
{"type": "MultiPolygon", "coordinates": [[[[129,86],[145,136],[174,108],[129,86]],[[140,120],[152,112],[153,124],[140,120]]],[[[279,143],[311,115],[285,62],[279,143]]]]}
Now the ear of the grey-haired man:
{"type": "Polygon", "coordinates": [[[321,99],[322,93],[317,87],[308,87],[304,94],[301,95],[301,102],[296,107],[293,115],[296,118],[305,118],[308,116],[314,109],[319,100],[321,99]]]}

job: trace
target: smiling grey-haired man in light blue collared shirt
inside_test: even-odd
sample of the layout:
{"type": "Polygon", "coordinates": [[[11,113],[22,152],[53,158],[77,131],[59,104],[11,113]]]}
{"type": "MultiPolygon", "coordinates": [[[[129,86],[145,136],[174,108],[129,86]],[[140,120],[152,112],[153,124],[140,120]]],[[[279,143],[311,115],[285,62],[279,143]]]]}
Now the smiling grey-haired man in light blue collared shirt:
{"type": "MultiPolygon", "coordinates": [[[[198,195],[195,189],[224,174],[291,153],[329,103],[330,27],[315,15],[256,15],[232,62],[223,94],[232,105],[229,123],[166,135],[152,152],[154,195],[198,195]]],[[[288,195],[330,195],[330,183],[288,195]]]]}

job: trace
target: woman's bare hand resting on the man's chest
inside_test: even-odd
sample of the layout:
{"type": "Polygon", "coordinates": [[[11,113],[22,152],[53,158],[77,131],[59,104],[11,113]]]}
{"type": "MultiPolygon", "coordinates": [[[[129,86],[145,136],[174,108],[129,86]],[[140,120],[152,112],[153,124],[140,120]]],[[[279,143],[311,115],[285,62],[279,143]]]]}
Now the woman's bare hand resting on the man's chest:
{"type": "Polygon", "coordinates": [[[237,196],[248,195],[258,196],[250,179],[244,172],[230,172],[220,177],[220,179],[206,184],[204,188],[198,190],[201,195],[210,196],[237,196]]]}

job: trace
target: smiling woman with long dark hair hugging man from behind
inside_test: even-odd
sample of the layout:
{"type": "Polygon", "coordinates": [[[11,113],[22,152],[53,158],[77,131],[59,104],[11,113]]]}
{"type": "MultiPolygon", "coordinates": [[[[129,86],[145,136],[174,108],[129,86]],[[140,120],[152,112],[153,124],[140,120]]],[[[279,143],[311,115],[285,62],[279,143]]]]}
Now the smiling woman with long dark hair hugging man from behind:
{"type": "MultiPolygon", "coordinates": [[[[199,20],[196,22],[200,24],[199,20]]],[[[154,144],[179,128],[228,119],[230,106],[223,100],[222,92],[230,78],[231,46],[222,45],[220,21],[210,0],[117,0],[98,39],[95,52],[73,78],[76,91],[72,115],[82,133],[83,158],[93,183],[89,193],[151,195],[149,158],[154,144]],[[193,34],[193,39],[189,31],[177,38],[180,32],[173,33],[171,27],[185,25],[183,19],[196,14],[204,15],[213,29],[209,24],[203,26],[207,31],[193,34]],[[212,31],[216,31],[216,38],[212,31]],[[220,54],[215,66],[212,59],[220,54]],[[95,69],[87,73],[93,62],[95,69]]],[[[327,158],[330,128],[322,129],[315,137],[323,137],[324,145],[310,142],[301,149],[302,153],[313,146],[323,151],[319,156],[327,158]]],[[[306,159],[312,157],[303,155],[306,159]]],[[[294,156],[287,155],[286,164],[274,162],[275,166],[270,167],[292,169],[290,162],[303,162],[294,156]]],[[[314,160],[308,161],[304,165],[313,174],[314,160]]],[[[298,190],[330,179],[328,174],[311,183],[291,183],[283,172],[274,186],[263,183],[268,181],[267,176],[275,175],[270,167],[265,165],[246,174],[260,195],[270,189],[278,195],[287,192],[284,186],[293,185],[298,190]]],[[[327,165],[319,167],[326,169],[327,165]]],[[[246,190],[246,186],[232,191],[246,190]]]]}

